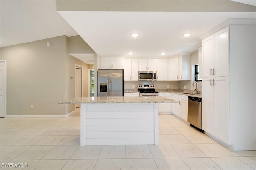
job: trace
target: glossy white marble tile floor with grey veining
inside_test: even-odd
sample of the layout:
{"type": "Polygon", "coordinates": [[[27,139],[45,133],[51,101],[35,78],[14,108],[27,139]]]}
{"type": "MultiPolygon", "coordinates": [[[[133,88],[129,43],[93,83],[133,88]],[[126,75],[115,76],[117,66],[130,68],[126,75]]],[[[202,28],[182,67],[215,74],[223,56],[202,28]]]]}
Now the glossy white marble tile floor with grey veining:
{"type": "Polygon", "coordinates": [[[256,151],[233,152],[174,115],[159,116],[159,145],[80,146],[79,112],[67,118],[0,118],[0,169],[256,169],[256,151]]]}

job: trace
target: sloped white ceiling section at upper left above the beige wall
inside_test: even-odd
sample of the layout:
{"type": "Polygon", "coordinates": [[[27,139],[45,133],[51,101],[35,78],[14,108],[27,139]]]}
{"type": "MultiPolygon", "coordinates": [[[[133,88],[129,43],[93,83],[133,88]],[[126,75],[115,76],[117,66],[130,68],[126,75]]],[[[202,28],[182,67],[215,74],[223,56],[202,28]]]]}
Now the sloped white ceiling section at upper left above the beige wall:
{"type": "Polygon", "coordinates": [[[77,32],[58,14],[55,0],[1,0],[1,47],[77,32]]]}

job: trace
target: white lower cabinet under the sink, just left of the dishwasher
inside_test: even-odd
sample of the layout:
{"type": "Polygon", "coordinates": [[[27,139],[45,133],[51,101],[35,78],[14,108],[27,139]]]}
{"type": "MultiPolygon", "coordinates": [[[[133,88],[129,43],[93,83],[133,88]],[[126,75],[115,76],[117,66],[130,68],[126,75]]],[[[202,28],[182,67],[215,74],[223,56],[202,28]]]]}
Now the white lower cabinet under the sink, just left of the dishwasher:
{"type": "Polygon", "coordinates": [[[178,101],[178,103],[171,104],[171,112],[185,121],[188,121],[188,96],[172,93],[171,99],[178,101]]]}

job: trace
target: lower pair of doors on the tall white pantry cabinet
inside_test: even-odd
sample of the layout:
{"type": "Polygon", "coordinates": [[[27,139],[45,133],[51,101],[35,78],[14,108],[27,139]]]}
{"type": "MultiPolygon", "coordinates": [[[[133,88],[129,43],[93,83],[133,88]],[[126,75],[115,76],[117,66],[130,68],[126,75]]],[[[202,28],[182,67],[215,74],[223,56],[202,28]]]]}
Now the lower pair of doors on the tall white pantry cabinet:
{"type": "Polygon", "coordinates": [[[202,80],[202,129],[229,143],[229,76],[202,80]]]}

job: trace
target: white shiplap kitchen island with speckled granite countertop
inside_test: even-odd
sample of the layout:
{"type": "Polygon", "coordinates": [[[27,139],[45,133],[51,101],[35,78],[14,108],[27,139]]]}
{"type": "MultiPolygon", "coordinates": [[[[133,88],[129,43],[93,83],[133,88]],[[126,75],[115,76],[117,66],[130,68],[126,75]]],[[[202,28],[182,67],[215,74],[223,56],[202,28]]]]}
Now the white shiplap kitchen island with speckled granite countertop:
{"type": "Polygon", "coordinates": [[[166,97],[79,97],[80,145],[159,144],[158,103],[166,97]]]}

